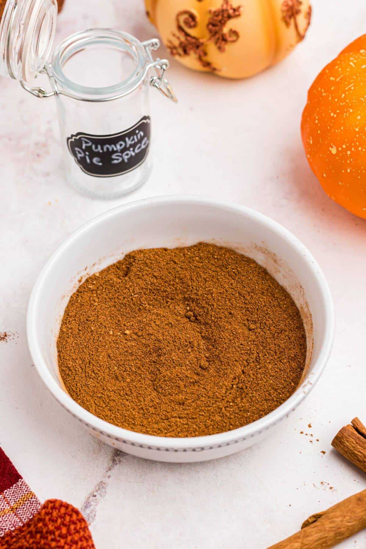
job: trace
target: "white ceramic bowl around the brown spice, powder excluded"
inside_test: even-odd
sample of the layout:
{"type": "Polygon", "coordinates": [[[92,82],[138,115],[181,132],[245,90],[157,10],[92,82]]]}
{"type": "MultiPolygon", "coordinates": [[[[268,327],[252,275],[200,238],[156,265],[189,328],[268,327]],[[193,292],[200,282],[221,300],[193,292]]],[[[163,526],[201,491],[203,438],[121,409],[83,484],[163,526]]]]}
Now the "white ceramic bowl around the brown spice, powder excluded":
{"type": "Polygon", "coordinates": [[[53,254],[33,288],[27,313],[30,352],[58,402],[93,436],[133,455],[157,461],[193,462],[227,456],[255,444],[295,410],[318,381],[328,360],[334,310],[328,284],[309,251],[284,227],[254,210],[198,197],[140,200],[89,221],[53,254]],[[237,249],[267,268],[299,307],[307,334],[306,373],[284,404],[254,423],[226,433],[165,438],[134,433],[93,416],[65,392],[56,341],[70,295],[80,279],[138,248],[176,247],[200,241],[237,249]]]}

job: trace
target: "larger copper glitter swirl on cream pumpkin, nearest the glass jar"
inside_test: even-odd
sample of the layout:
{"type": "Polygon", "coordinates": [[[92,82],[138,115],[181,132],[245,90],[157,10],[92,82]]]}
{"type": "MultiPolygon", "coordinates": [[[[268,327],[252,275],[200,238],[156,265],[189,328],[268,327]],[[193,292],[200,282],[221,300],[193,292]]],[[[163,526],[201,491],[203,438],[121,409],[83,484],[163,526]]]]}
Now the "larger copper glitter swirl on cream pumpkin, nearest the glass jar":
{"type": "Polygon", "coordinates": [[[194,55],[205,69],[215,72],[219,69],[205,59],[207,56],[206,44],[213,42],[219,52],[224,52],[228,43],[237,42],[240,37],[239,32],[234,29],[224,31],[224,27],[230,19],[240,15],[240,5],[234,8],[229,0],[223,0],[221,8],[210,9],[210,18],[206,25],[209,36],[207,38],[198,38],[192,36],[187,30],[198,26],[197,16],[190,10],[182,10],[176,15],[178,33],[173,33],[175,41],[168,40],[167,48],[173,56],[186,57],[187,55],[194,55]]]}

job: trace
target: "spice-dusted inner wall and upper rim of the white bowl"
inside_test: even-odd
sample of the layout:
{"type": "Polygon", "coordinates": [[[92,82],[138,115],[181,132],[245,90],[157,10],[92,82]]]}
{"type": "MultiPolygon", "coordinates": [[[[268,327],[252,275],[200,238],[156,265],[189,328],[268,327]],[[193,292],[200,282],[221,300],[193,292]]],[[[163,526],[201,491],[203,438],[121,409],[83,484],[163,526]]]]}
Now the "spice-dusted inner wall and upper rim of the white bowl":
{"type": "Polygon", "coordinates": [[[174,197],[110,210],[79,229],[52,256],[38,278],[30,304],[30,347],[38,372],[48,369],[63,388],[57,365],[59,326],[70,295],[86,277],[138,248],[171,248],[200,241],[252,257],[288,290],[299,307],[307,335],[302,382],[304,378],[311,381],[324,351],[327,322],[329,325],[328,287],[311,254],[283,227],[255,211],[174,197]]]}

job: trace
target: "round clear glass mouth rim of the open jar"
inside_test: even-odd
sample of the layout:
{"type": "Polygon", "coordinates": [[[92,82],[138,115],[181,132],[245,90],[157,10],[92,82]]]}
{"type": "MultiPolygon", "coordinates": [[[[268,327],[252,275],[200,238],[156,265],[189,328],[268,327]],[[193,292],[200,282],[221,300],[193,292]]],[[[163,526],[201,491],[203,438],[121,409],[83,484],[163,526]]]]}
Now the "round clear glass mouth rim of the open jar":
{"type": "MultiPolygon", "coordinates": [[[[66,94],[80,99],[95,98],[109,99],[115,96],[124,96],[138,88],[149,69],[148,57],[143,44],[127,32],[115,29],[89,29],[76,32],[67,37],[55,50],[51,63],[51,74],[56,88],[61,86],[66,94]],[[63,66],[76,53],[95,45],[114,46],[124,52],[132,54],[136,61],[136,68],[121,82],[112,86],[90,87],[82,86],[70,80],[63,70],[63,66]],[[67,93],[68,92],[68,93],[67,93]]],[[[57,93],[57,89],[55,90],[57,93]]]]}

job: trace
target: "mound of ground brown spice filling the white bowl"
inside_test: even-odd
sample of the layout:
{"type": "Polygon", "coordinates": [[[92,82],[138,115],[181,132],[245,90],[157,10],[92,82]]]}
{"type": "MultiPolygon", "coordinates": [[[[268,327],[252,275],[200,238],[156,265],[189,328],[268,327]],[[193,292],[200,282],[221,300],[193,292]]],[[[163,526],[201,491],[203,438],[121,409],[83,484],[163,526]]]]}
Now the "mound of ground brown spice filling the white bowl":
{"type": "Polygon", "coordinates": [[[254,260],[200,243],[137,250],[71,296],[57,343],[70,396],[140,433],[242,427],[296,389],[306,337],[290,295],[254,260]]]}

